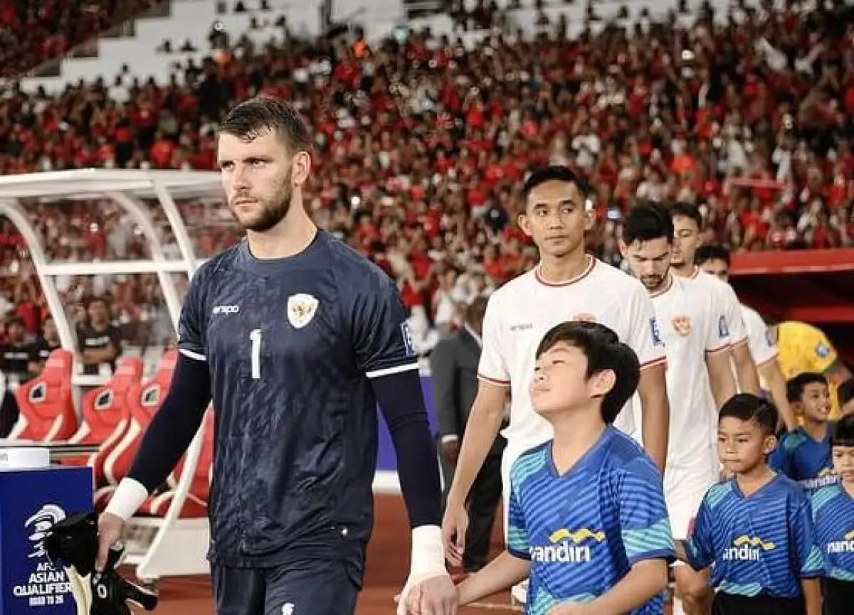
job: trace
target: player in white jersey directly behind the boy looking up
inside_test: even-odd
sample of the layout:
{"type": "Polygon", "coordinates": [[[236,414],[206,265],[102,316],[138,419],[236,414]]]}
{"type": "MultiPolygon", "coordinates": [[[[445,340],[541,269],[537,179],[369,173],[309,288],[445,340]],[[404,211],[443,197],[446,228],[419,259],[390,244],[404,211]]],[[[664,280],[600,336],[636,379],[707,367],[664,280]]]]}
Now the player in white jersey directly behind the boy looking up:
{"type": "MultiPolygon", "coordinates": [[[[646,291],[638,281],[584,252],[592,212],[586,210],[570,169],[552,165],[535,171],[524,194],[525,210],[518,223],[540,249],[540,263],[493,293],[487,306],[480,383],[442,522],[447,558],[455,565],[465,548],[465,498],[499,431],[508,390],[512,400],[502,463],[505,486],[512,461],[553,437],[551,426],[531,408],[529,383],[537,345],[560,322],[600,322],[632,347],[644,365],[638,386],[642,426],[637,427],[642,427],[646,450],[659,467],[664,467],[667,451],[664,346],[646,291]]],[[[621,419],[623,428],[635,427],[630,409],[623,410],[621,419]]]]}

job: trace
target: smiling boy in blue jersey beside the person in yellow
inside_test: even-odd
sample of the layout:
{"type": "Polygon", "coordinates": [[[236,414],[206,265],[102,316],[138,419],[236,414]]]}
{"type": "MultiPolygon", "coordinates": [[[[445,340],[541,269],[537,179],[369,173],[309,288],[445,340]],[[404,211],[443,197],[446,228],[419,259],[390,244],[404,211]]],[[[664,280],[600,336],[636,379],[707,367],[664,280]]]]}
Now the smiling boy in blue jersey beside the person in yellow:
{"type": "Polygon", "coordinates": [[[783,434],[769,466],[798,481],[807,494],[836,482],[830,463],[830,438],[834,422],[830,416],[830,389],[822,374],[804,372],[787,382],[787,397],[803,425],[783,434]]]}

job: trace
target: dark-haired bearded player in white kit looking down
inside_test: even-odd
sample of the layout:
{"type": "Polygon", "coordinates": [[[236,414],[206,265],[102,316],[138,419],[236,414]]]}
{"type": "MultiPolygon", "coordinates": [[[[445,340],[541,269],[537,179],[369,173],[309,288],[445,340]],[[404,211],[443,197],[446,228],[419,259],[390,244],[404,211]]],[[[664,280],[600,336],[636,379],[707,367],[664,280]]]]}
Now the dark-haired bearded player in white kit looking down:
{"type": "MultiPolygon", "coordinates": [[[[672,246],[670,213],[663,206],[635,206],[623,225],[620,252],[652,299],[666,349],[670,437],[664,498],[673,537],[686,540],[703,496],[718,479],[713,420],[736,389],[718,295],[671,273],[672,246]]],[[[676,566],[674,577],[674,612],[708,612],[708,574],[676,566]]]]}

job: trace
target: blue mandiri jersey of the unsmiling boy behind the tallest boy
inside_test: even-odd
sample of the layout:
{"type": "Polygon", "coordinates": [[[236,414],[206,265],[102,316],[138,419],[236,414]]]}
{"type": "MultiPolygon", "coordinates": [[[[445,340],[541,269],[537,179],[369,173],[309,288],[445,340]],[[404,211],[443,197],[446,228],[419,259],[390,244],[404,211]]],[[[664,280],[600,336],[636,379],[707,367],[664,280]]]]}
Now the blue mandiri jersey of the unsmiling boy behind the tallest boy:
{"type": "Polygon", "coordinates": [[[711,584],[734,595],[795,598],[800,579],[824,573],[810,501],[781,474],[751,496],[741,493],[736,479],[712,486],[685,551],[693,568],[713,564],[711,584]]]}

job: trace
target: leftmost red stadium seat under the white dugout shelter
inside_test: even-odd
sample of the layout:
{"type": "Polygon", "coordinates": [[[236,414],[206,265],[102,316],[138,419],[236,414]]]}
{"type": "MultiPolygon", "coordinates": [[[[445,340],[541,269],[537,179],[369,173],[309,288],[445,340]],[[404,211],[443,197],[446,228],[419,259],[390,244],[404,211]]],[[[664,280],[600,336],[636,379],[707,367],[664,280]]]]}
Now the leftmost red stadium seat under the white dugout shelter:
{"type": "Polygon", "coordinates": [[[77,414],[71,395],[73,352],[50,353],[42,373],[18,387],[15,398],[20,415],[9,439],[56,442],[77,430],[77,414]]]}

